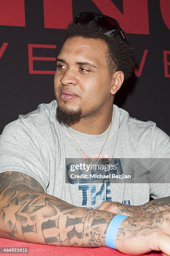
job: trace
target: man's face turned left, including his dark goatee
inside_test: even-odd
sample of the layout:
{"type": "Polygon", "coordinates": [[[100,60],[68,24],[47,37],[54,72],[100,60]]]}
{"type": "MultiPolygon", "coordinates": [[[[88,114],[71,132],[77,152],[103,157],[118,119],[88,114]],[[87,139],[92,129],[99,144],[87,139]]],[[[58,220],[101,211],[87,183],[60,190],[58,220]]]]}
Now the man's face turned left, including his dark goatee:
{"type": "Polygon", "coordinates": [[[112,104],[106,53],[101,39],[73,37],[63,44],[54,77],[60,123],[71,125],[101,115],[112,104]]]}

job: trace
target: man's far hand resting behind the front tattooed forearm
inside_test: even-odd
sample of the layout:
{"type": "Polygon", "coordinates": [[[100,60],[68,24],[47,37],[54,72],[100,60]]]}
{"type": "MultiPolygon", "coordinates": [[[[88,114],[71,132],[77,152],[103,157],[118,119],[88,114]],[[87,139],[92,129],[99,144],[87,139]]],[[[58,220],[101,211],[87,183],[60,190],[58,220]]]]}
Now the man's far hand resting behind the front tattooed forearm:
{"type": "Polygon", "coordinates": [[[141,206],[124,205],[120,202],[111,201],[102,202],[102,204],[97,207],[97,210],[105,210],[107,212],[128,215],[130,217],[141,217],[148,213],[141,206]]]}

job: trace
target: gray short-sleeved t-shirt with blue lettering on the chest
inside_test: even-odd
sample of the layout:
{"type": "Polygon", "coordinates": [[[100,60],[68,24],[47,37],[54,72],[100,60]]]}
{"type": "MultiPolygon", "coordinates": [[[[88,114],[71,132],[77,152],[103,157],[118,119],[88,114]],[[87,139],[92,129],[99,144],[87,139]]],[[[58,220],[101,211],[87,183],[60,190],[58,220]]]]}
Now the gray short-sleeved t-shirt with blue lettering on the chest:
{"type": "MultiPolygon", "coordinates": [[[[36,179],[49,195],[72,205],[96,208],[105,200],[141,205],[151,197],[170,196],[169,183],[66,183],[66,158],[97,158],[107,130],[99,135],[60,125],[57,102],[42,103],[5,126],[0,136],[0,172],[18,171],[36,179]]],[[[131,118],[113,105],[112,126],[100,157],[117,159],[170,158],[170,137],[152,121],[131,118]]],[[[123,170],[122,170],[123,172],[123,170]]],[[[160,172],[164,172],[163,168],[160,172]]]]}

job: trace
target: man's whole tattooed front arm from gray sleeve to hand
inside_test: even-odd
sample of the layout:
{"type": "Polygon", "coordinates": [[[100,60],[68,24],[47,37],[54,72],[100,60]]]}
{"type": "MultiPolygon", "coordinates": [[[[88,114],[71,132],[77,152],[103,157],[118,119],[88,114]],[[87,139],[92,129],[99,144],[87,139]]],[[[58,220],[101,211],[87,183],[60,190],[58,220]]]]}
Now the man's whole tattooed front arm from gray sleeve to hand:
{"type": "MultiPolygon", "coordinates": [[[[104,209],[75,207],[47,195],[27,174],[0,174],[1,237],[56,246],[106,246],[106,230],[109,226],[114,231],[116,223],[110,222],[114,216],[104,209]]],[[[123,253],[143,254],[153,249],[170,255],[169,229],[170,211],[125,218],[116,238],[109,233],[111,247],[115,243],[123,253]]]]}

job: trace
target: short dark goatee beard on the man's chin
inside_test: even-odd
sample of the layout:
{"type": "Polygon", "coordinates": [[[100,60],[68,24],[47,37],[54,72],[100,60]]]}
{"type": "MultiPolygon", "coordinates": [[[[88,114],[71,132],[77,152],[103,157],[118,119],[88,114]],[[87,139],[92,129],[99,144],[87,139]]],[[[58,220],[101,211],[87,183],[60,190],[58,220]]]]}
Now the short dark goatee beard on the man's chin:
{"type": "Polygon", "coordinates": [[[70,126],[75,123],[78,123],[81,117],[81,108],[78,108],[77,110],[70,110],[68,108],[60,107],[59,105],[57,105],[56,118],[60,124],[70,126]]]}

